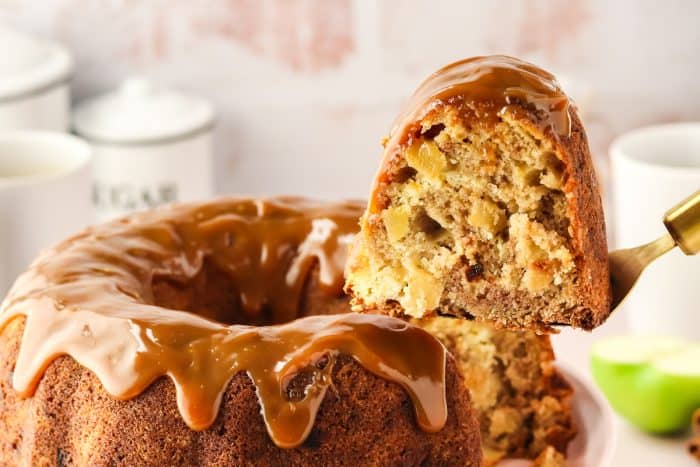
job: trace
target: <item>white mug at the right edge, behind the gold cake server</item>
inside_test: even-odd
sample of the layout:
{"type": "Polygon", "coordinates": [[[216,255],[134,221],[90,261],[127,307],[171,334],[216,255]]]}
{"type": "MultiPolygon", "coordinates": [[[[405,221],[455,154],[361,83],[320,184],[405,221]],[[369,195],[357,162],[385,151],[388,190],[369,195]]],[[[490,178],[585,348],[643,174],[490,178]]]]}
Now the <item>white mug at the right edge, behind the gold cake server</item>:
{"type": "MultiPolygon", "coordinates": [[[[610,147],[615,247],[666,232],[664,213],[700,188],[700,122],[641,128],[610,147]]],[[[700,340],[700,256],[678,248],[639,279],[621,312],[630,331],[700,340]]]]}

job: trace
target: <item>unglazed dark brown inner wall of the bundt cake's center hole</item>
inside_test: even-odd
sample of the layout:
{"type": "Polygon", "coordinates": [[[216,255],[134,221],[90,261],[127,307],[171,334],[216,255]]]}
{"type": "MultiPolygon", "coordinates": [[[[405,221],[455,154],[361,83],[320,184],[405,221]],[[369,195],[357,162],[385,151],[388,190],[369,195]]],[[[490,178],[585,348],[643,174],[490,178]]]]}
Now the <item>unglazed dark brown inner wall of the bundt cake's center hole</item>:
{"type": "Polygon", "coordinates": [[[210,258],[205,259],[199,271],[189,278],[154,276],[151,290],[156,306],[187,311],[226,324],[267,326],[304,316],[350,311],[344,295],[329,295],[322,290],[318,267],[311,269],[298,293],[280,290],[275,300],[262,297],[259,306],[243,306],[242,297],[247,291],[242,290],[236,280],[210,258]]]}

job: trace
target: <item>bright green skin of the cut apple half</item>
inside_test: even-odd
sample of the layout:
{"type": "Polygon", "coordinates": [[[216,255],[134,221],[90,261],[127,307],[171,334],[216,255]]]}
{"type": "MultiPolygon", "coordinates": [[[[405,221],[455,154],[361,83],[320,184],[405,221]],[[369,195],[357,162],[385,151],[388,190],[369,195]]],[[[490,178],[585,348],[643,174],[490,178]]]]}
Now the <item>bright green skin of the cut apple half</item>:
{"type": "Polygon", "coordinates": [[[685,430],[700,407],[700,375],[668,374],[650,362],[615,362],[595,353],[591,371],[615,411],[650,433],[685,430]]]}

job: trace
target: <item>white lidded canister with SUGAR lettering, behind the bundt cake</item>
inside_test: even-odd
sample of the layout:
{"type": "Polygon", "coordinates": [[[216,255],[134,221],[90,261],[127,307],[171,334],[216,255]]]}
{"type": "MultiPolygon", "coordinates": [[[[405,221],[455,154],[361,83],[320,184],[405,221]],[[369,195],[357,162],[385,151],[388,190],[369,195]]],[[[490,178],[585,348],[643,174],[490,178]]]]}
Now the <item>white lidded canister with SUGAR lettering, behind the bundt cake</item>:
{"type": "Polygon", "coordinates": [[[93,145],[98,220],[211,197],[213,127],[209,102],[143,78],[78,105],[73,128],[93,145]]]}

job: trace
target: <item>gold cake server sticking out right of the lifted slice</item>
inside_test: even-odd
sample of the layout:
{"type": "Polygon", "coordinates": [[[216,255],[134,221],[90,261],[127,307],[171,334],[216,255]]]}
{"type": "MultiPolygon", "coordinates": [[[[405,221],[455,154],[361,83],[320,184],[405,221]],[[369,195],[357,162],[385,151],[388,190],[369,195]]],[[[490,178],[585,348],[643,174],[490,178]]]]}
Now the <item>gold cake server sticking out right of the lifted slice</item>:
{"type": "Polygon", "coordinates": [[[657,240],[610,253],[613,311],[627,298],[644,268],[656,258],[676,246],[686,255],[700,251],[700,190],[668,210],[664,225],[668,233],[657,240]]]}

